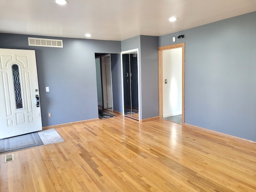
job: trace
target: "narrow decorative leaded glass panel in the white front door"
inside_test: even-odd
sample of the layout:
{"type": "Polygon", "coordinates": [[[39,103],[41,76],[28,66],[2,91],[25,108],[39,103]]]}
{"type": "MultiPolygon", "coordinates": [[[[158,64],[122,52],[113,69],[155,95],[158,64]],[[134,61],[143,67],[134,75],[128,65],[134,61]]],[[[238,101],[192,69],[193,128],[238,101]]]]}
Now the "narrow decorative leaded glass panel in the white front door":
{"type": "Polygon", "coordinates": [[[23,108],[23,105],[22,105],[22,94],[21,94],[21,86],[20,86],[20,70],[18,65],[14,64],[12,66],[12,74],[13,74],[16,109],[20,109],[20,108],[23,108]]]}

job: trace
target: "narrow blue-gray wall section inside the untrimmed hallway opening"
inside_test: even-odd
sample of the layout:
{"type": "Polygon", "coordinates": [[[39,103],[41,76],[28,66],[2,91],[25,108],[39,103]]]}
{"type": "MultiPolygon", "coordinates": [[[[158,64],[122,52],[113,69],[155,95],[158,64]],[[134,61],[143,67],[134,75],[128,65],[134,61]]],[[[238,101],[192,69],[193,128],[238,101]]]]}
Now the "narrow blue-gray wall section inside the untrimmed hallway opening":
{"type": "Polygon", "coordinates": [[[113,110],[123,112],[121,54],[111,54],[113,110]]]}

